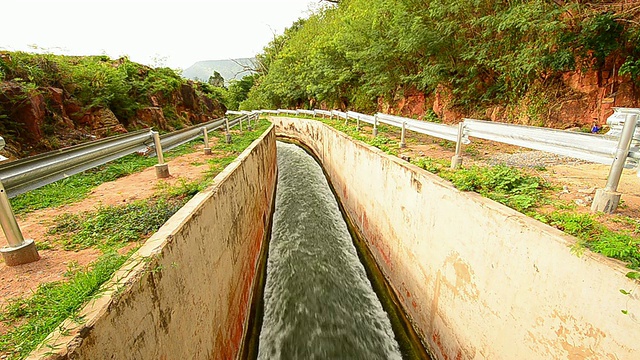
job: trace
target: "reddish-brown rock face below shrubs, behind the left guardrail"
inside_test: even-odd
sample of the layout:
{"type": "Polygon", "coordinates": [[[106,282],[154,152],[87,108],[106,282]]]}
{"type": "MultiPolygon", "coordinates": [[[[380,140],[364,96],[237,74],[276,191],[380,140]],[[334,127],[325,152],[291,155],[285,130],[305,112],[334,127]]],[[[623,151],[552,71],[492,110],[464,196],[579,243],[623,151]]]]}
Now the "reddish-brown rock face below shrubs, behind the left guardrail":
{"type": "Polygon", "coordinates": [[[0,119],[4,123],[0,123],[0,136],[7,140],[9,153],[22,157],[129,130],[173,131],[178,124],[190,126],[223,117],[226,108],[200,94],[196,87],[189,81],[168,96],[151,96],[148,102],[140,103],[134,116],[122,119],[107,107],[83,106],[62,88],[34,89],[15,81],[0,82],[0,119]],[[171,109],[172,122],[163,107],[171,109]]]}

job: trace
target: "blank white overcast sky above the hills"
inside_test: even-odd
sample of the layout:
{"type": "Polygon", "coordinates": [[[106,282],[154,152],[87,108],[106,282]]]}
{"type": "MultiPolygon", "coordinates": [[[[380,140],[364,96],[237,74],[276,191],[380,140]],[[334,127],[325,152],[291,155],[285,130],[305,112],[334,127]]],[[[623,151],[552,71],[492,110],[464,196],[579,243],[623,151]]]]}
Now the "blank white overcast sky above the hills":
{"type": "Polygon", "coordinates": [[[0,0],[0,49],[185,69],[252,57],[319,0],[0,0]]]}

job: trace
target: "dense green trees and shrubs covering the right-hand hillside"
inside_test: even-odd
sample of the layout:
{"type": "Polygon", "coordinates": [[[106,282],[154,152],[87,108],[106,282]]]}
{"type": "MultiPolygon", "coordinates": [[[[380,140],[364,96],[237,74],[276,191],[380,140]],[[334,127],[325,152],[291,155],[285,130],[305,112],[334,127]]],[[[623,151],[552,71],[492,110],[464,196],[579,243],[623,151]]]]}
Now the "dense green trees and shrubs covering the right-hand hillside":
{"type": "Polygon", "coordinates": [[[569,91],[566,71],[640,79],[639,11],[612,1],[343,0],[265,47],[242,107],[372,112],[406,91],[446,89],[466,110],[523,102],[542,112],[558,95],[544,89],[569,91]]]}

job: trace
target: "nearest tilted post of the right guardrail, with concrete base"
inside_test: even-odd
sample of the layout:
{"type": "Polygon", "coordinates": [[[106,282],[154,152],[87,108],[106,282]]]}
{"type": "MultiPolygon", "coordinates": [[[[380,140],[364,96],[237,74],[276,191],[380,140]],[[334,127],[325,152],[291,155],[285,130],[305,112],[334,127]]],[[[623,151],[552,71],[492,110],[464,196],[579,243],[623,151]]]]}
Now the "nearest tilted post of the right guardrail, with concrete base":
{"type": "Polygon", "coordinates": [[[607,185],[604,189],[596,190],[596,195],[591,203],[592,212],[611,214],[618,208],[620,196],[622,195],[617,191],[618,184],[620,183],[624,163],[627,161],[627,156],[629,156],[629,148],[631,147],[631,140],[633,139],[633,134],[638,123],[638,115],[638,113],[627,113],[625,116],[622,134],[620,134],[620,140],[618,141],[618,148],[616,150],[616,157],[613,159],[609,177],[607,178],[607,185]]]}

